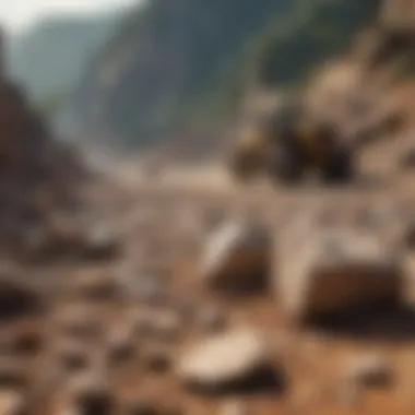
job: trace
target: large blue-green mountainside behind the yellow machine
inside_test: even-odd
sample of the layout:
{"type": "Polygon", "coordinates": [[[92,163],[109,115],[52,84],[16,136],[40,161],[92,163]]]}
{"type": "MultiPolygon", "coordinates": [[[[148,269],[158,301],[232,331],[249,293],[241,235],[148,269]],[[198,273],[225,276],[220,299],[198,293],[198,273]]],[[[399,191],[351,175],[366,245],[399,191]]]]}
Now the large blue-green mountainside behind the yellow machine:
{"type": "Polygon", "coordinates": [[[211,126],[258,74],[298,81],[342,52],[378,3],[153,0],[90,67],[72,97],[72,123],[132,147],[211,126]]]}

